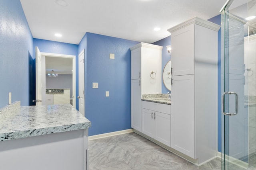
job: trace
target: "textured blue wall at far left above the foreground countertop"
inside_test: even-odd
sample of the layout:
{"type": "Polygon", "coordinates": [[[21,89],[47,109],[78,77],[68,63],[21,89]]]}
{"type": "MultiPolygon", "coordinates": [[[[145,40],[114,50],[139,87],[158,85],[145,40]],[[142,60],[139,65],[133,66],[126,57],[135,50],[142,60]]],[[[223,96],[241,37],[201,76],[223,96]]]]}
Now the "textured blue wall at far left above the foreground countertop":
{"type": "Polygon", "coordinates": [[[29,105],[30,63],[33,38],[20,0],[0,0],[0,107],[20,100],[29,105]]]}

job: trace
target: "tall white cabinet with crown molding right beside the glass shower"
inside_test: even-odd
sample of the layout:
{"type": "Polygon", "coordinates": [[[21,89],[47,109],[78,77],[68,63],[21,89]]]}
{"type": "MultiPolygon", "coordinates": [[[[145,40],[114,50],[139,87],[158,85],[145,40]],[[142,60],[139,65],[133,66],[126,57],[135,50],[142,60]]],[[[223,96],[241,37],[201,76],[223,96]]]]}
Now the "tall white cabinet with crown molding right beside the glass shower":
{"type": "Polygon", "coordinates": [[[171,147],[207,161],[217,154],[218,30],[192,18],[172,34],[171,147]]]}

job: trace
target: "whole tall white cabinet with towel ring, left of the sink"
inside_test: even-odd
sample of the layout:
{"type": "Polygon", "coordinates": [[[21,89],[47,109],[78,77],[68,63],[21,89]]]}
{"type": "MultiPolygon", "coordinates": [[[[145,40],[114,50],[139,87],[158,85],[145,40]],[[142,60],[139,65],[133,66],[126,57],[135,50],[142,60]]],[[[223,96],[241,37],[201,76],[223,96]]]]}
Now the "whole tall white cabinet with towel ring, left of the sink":
{"type": "Polygon", "coordinates": [[[142,94],[162,93],[162,46],[139,43],[131,50],[131,126],[141,132],[142,94]]]}

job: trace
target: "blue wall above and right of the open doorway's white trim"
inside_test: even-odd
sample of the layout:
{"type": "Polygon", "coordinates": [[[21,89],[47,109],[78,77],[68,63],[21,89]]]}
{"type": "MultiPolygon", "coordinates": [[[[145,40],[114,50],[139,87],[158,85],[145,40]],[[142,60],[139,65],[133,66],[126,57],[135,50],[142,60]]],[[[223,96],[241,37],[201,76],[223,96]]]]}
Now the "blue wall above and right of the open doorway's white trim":
{"type": "MultiPolygon", "coordinates": [[[[34,49],[39,48],[42,53],[56,53],[65,55],[75,55],[76,56],[76,96],[78,96],[78,45],[61,43],[56,41],[48,41],[44,39],[33,39],[34,49]]],[[[35,53],[33,54],[35,58],[35,53]]],[[[76,109],[78,109],[78,99],[76,98],[76,109]]]]}

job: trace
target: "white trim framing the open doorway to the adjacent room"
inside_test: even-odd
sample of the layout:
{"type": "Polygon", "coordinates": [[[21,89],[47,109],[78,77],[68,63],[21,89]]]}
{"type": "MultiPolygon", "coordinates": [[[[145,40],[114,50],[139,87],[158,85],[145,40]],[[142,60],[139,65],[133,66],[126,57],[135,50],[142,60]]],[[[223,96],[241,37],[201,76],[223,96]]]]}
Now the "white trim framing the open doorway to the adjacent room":
{"type": "MultiPolygon", "coordinates": [[[[65,55],[65,54],[55,54],[55,53],[42,53],[42,58],[44,58],[45,61],[45,57],[60,57],[60,58],[69,58],[72,59],[72,63],[73,63],[73,76],[72,76],[72,86],[73,86],[73,91],[72,91],[72,98],[73,98],[73,107],[76,108],[76,56],[75,55],[65,55]]],[[[45,73],[45,64],[43,64],[42,66],[42,73],[45,73]]],[[[44,74],[45,75],[45,74],[44,74]]],[[[45,79],[45,76],[42,76],[42,78],[45,79]]],[[[43,82],[43,80],[42,80],[43,82]]],[[[45,80],[44,80],[45,82],[45,80]]],[[[42,89],[42,98],[46,99],[46,94],[45,94],[45,86],[42,89]]]]}

